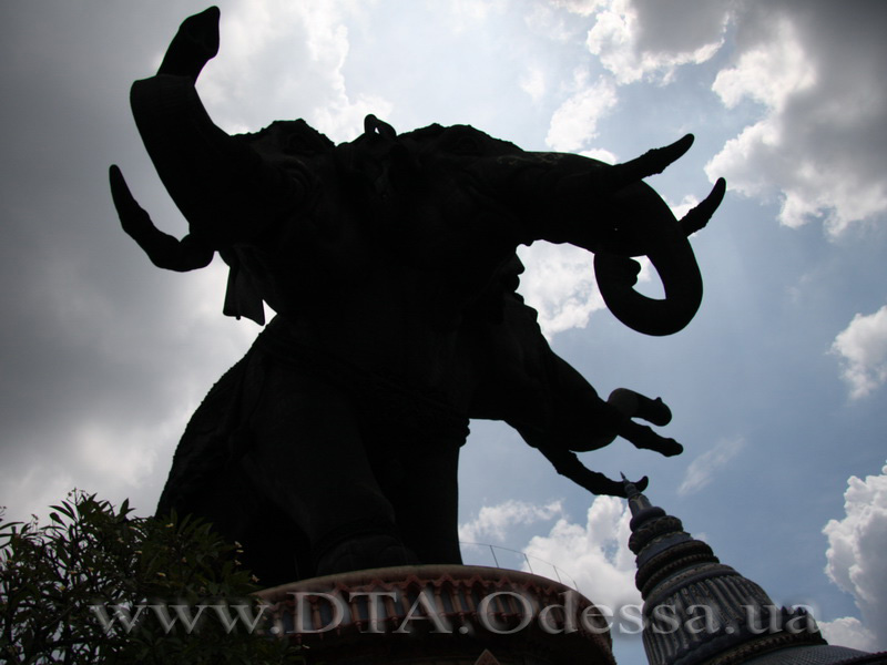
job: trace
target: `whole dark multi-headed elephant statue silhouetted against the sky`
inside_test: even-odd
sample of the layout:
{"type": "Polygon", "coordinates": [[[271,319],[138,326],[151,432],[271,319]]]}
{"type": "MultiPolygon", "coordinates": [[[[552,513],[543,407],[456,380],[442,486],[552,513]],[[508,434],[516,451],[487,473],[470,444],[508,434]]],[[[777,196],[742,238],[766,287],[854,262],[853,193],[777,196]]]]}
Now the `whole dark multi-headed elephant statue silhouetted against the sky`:
{"type": "MultiPolygon", "coordinates": [[[[660,399],[608,400],[549,347],[517,293],[520,245],[594,255],[608,307],[670,335],[693,318],[702,279],[687,236],[724,194],[683,219],[643,182],[691,135],[608,165],[524,152],[470,126],[398,134],[373,115],[334,145],[302,120],[227,135],[194,83],[218,49],[220,12],[191,17],[131,103],[145,149],[187,219],[160,232],[111,167],[124,231],[157,266],[230,266],[224,314],[264,325],[212,388],[179,444],[157,508],[211,521],[243,543],[265,584],[409,563],[460,563],[457,463],[469,419],[516,428],[594,493],[621,481],[574,454],[622,437],[681,446],[660,399]],[[664,299],[633,289],[648,256],[664,299]]],[[[646,479],[635,483],[639,488],[646,479]]]]}

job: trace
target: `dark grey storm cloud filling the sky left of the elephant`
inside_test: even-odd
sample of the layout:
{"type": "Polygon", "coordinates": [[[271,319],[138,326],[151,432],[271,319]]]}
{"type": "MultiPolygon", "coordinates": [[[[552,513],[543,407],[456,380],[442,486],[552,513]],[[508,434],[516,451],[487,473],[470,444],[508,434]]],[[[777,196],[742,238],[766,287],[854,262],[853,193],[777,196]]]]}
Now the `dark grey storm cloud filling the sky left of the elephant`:
{"type": "MultiPolygon", "coordinates": [[[[213,372],[233,361],[224,351],[236,352],[226,349],[224,332],[218,342],[194,345],[201,336],[220,338],[192,303],[212,298],[215,314],[222,294],[212,287],[223,288],[217,283],[224,275],[216,269],[210,283],[204,276],[176,280],[153,269],[120,229],[108,193],[108,166],[119,162],[143,185],[140,195],[155,208],[159,225],[184,229],[157,184],[144,186],[150,164],[128,108],[130,83],[150,73],[163,48],[162,40],[149,43],[140,35],[172,34],[181,19],[174,7],[99,10],[59,2],[0,9],[6,488],[29,477],[41,487],[61,474],[101,489],[109,479],[113,485],[150,471],[135,472],[151,456],[133,457],[133,442],[151,446],[154,432],[154,447],[169,449],[177,432],[164,432],[163,423],[172,418],[181,426],[182,402],[196,403],[213,372]],[[191,357],[184,370],[183,356],[191,357]],[[96,452],[96,442],[106,450],[96,452]],[[116,458],[120,478],[114,469],[96,473],[94,458],[102,454],[116,458]]],[[[32,499],[4,492],[0,503],[30,510],[37,508],[32,499]]]]}

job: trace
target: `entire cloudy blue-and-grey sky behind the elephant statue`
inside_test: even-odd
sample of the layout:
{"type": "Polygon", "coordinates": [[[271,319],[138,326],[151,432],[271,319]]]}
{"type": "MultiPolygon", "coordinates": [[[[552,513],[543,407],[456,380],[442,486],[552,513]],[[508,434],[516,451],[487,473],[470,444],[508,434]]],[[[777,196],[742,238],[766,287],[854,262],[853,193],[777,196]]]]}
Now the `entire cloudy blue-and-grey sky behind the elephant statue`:
{"type": "MultiPolygon", "coordinates": [[[[153,512],[187,418],[259,328],[222,315],[216,258],[154,268],[120,229],[120,164],[183,235],[129,110],[181,21],[163,3],[0,4],[0,505],[45,514],[72,488],[153,512]]],[[[304,117],[336,142],[367,113],[398,131],[472,124],[526,150],[609,162],[693,149],[650,178],[687,209],[727,195],[692,243],[695,319],[634,332],[591,256],[523,248],[521,291],[599,392],[662,396],[661,458],[583,453],[650,499],[833,644],[887,649],[887,4],[877,0],[232,0],[198,91],[231,133],[304,117]]],[[[655,294],[649,270],[644,289],[655,294]]],[[[462,539],[548,562],[611,607],[639,602],[625,503],[558,477],[507,426],[472,422],[462,539]]],[[[489,550],[466,545],[469,561],[489,550]]],[[[550,566],[549,566],[550,567],[550,566]]],[[[553,569],[551,569],[553,571],[553,569]]],[[[640,637],[614,631],[620,662],[640,637]]]]}

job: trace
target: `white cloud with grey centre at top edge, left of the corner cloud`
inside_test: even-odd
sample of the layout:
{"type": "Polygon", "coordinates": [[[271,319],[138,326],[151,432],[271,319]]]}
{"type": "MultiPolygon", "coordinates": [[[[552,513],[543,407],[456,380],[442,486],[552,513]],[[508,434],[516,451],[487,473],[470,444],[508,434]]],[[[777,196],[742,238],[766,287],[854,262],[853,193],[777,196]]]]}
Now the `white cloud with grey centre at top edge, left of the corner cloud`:
{"type": "Polygon", "coordinates": [[[723,2],[606,0],[595,3],[589,50],[620,84],[641,79],[671,81],[687,63],[711,59],[724,42],[727,13],[723,2]],[[680,17],[680,19],[679,19],[680,17]]]}

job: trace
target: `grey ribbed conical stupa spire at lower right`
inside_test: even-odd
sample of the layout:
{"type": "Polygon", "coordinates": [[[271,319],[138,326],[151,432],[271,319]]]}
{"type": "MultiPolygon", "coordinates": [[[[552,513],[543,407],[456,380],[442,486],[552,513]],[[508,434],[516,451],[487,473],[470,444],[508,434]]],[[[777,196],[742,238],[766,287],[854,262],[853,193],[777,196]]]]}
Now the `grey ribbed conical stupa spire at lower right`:
{"type": "Polygon", "coordinates": [[[813,616],[776,606],[761,586],[686,533],[681,520],[624,482],[650,665],[887,663],[887,653],[829,645],[813,616]]]}

